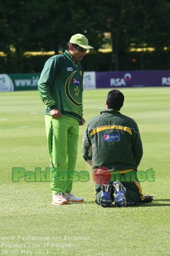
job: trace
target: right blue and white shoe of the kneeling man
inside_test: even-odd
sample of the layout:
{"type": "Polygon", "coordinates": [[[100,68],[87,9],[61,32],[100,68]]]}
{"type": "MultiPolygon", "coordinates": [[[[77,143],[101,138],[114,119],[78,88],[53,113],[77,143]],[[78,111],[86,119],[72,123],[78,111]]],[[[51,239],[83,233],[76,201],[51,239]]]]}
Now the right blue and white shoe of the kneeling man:
{"type": "Polygon", "coordinates": [[[119,180],[113,182],[113,191],[116,194],[114,203],[116,207],[125,207],[127,205],[125,192],[126,189],[119,180]]]}

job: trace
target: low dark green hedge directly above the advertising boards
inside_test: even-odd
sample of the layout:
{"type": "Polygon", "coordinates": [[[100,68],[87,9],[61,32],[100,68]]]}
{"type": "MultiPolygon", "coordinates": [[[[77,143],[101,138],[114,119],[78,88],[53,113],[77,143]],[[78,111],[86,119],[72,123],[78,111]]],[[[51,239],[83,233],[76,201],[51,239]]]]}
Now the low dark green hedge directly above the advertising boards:
{"type": "MultiPolygon", "coordinates": [[[[84,71],[115,71],[112,53],[91,52],[82,60],[84,71]]],[[[0,57],[0,73],[39,73],[50,56],[0,57]]],[[[118,70],[169,70],[170,52],[120,52],[118,70]]]]}

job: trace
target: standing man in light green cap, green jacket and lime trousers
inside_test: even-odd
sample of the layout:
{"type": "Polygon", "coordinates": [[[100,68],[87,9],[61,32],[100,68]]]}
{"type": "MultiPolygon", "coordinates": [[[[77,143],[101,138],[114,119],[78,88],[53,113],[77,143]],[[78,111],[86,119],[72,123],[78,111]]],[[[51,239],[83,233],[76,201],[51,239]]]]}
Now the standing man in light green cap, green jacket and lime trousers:
{"type": "Polygon", "coordinates": [[[83,202],[72,193],[71,175],[75,171],[79,125],[82,117],[83,70],[79,61],[85,57],[88,39],[73,35],[63,54],[49,58],[42,70],[38,90],[45,108],[45,125],[52,171],[52,204],[83,202]],[[64,181],[59,179],[64,174],[64,181]],[[73,173],[73,172],[72,172],[73,173]]]}

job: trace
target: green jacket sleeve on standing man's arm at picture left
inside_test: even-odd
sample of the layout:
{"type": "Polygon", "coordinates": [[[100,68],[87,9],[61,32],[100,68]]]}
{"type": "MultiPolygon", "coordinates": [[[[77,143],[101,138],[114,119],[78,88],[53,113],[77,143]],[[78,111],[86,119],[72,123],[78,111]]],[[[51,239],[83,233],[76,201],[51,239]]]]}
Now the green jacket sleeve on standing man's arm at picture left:
{"type": "Polygon", "coordinates": [[[50,109],[57,108],[57,102],[55,102],[51,89],[54,86],[53,80],[55,73],[57,72],[57,60],[56,58],[50,58],[45,62],[40,79],[38,81],[38,91],[42,102],[50,109]]]}

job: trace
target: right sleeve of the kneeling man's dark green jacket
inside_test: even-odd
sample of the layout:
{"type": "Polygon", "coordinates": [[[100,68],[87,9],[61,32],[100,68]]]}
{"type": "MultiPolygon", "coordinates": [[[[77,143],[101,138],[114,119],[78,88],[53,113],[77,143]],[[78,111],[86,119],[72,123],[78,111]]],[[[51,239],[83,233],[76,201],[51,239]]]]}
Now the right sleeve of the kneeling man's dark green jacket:
{"type": "Polygon", "coordinates": [[[139,163],[143,156],[143,148],[142,148],[142,141],[139,134],[139,129],[136,122],[134,122],[132,150],[133,150],[133,159],[137,164],[137,166],[139,166],[139,163]]]}

